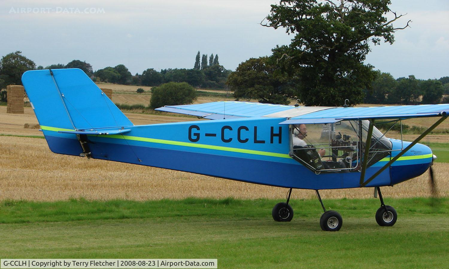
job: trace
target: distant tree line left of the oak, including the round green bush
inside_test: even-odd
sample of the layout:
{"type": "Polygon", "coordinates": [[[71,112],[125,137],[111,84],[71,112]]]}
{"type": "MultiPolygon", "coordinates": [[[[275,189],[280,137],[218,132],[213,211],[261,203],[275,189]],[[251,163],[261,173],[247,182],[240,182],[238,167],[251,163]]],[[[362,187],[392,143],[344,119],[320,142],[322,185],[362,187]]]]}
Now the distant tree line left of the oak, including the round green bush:
{"type": "MultiPolygon", "coordinates": [[[[23,56],[22,52],[16,51],[3,56],[0,60],[0,100],[6,101],[6,91],[3,89],[7,85],[22,85],[22,74],[27,70],[79,68],[94,82],[156,86],[151,89],[150,108],[166,104],[187,104],[192,103],[197,97],[194,87],[216,89],[225,87],[225,80],[230,70],[219,65],[218,55],[215,57],[211,55],[209,59],[209,64],[202,64],[200,69],[163,69],[161,72],[146,69],[141,75],[132,76],[125,65],[108,66],[93,72],[92,65],[80,60],[70,61],[66,65],[54,64],[36,67],[34,61],[23,56]]],[[[143,89],[140,90],[143,92],[143,89]]]]}

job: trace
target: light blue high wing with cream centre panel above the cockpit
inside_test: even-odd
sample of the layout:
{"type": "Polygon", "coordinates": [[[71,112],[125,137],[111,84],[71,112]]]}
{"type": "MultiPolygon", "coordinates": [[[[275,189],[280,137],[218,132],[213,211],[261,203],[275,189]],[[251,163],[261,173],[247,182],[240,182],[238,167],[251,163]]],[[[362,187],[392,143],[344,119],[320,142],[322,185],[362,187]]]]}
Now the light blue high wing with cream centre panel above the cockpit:
{"type": "Polygon", "coordinates": [[[438,117],[449,113],[449,104],[420,104],[379,107],[295,107],[281,104],[224,101],[206,104],[172,105],[156,110],[181,113],[207,119],[236,117],[284,117],[281,124],[330,123],[340,120],[407,119],[438,117]]]}

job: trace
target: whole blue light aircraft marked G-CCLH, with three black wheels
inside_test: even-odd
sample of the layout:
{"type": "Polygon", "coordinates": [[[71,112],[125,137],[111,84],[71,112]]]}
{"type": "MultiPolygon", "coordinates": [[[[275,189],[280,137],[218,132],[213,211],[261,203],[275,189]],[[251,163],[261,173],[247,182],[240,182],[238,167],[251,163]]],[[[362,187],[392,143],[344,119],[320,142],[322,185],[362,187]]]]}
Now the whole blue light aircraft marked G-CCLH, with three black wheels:
{"type": "MultiPolygon", "coordinates": [[[[447,117],[449,104],[351,108],[250,102],[172,105],[160,111],[211,119],[135,126],[80,69],[27,71],[22,82],[52,152],[204,174],[288,188],[275,221],[291,221],[292,189],[315,190],[322,230],[343,220],[326,210],[319,190],[374,187],[380,226],[392,226],[395,209],[380,187],[423,174],[436,158],[417,143],[447,117]],[[389,139],[374,126],[436,117],[413,142],[389,139]]],[[[431,173],[432,174],[432,173],[431,173]]],[[[432,177],[433,182],[433,177],[432,177]]]]}

